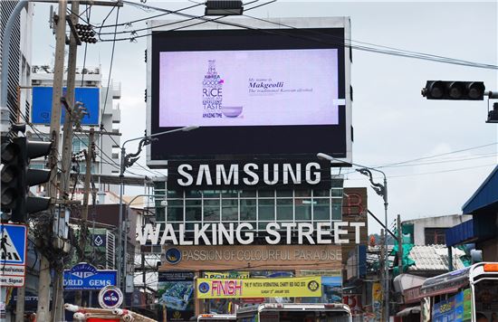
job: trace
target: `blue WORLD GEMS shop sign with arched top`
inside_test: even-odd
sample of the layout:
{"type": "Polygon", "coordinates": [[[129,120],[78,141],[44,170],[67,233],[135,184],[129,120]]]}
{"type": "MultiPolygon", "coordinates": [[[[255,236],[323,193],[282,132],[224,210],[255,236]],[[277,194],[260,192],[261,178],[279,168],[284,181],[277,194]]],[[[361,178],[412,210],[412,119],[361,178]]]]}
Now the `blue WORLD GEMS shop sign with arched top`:
{"type": "Polygon", "coordinates": [[[117,270],[97,270],[93,265],[81,262],[64,270],[64,289],[102,289],[115,286],[117,270]]]}

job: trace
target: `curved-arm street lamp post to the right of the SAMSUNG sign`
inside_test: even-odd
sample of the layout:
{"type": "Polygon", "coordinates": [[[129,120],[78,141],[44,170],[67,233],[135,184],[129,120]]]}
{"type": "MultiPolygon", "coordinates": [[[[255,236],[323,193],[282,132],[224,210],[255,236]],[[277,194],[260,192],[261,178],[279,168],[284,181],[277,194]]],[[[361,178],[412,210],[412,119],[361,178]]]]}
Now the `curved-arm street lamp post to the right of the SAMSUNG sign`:
{"type": "MultiPolygon", "coordinates": [[[[359,169],[356,169],[361,175],[367,175],[369,177],[370,184],[374,191],[382,197],[384,200],[384,225],[385,228],[388,229],[388,179],[386,174],[376,168],[369,166],[361,166],[358,164],[354,164],[352,162],[344,162],[340,159],[336,159],[335,157],[326,155],[324,153],[317,154],[318,158],[329,161],[338,161],[340,163],[346,163],[351,166],[358,166],[359,169]],[[384,183],[378,184],[373,181],[372,171],[376,171],[384,176],[384,183]]],[[[388,234],[386,233],[386,237],[384,238],[384,247],[386,249],[385,259],[384,259],[384,301],[386,303],[385,308],[385,321],[389,320],[389,253],[388,253],[388,234]]]]}

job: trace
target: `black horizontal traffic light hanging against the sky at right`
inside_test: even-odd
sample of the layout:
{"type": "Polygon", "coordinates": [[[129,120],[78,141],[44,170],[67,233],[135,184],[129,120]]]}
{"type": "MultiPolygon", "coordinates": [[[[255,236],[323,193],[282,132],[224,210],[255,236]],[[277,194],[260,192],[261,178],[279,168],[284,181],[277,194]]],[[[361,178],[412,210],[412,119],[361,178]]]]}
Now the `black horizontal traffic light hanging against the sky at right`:
{"type": "Polygon", "coordinates": [[[427,80],[426,99],[483,100],[483,81],[427,80]]]}

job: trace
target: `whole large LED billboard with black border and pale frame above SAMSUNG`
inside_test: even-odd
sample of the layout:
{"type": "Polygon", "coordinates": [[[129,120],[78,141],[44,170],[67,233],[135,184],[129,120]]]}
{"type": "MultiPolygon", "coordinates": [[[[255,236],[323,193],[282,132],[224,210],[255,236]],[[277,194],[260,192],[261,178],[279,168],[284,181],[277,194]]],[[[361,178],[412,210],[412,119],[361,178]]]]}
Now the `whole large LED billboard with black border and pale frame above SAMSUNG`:
{"type": "Polygon", "coordinates": [[[249,29],[154,29],[148,133],[200,128],[158,137],[148,166],[318,152],[350,160],[349,19],[294,19],[292,29],[237,24],[249,29]]]}

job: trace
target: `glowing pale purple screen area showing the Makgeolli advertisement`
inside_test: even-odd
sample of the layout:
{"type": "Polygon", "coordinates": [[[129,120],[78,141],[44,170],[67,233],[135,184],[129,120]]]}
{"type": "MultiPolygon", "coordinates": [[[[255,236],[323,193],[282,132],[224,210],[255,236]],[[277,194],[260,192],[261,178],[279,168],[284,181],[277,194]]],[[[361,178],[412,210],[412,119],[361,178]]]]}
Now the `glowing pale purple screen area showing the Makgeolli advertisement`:
{"type": "Polygon", "coordinates": [[[338,78],[336,49],[160,52],[159,127],[337,125],[338,78]]]}

